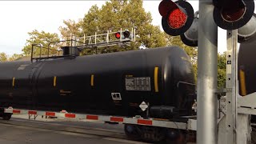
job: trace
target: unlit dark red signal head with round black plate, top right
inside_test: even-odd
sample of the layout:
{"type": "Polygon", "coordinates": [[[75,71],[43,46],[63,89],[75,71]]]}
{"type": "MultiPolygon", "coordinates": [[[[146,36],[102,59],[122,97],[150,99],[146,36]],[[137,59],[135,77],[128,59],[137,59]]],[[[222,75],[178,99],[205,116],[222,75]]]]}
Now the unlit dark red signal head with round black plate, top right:
{"type": "Polygon", "coordinates": [[[214,22],[225,30],[235,30],[250,21],[254,0],[214,0],[214,22]]]}

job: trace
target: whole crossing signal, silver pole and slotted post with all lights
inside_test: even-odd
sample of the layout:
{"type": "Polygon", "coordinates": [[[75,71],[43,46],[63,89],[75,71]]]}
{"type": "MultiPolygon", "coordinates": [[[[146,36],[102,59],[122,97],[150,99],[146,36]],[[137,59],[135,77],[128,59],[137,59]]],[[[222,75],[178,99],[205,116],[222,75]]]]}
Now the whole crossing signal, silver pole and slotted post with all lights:
{"type": "MultiPolygon", "coordinates": [[[[199,0],[199,25],[200,29],[194,34],[190,33],[190,26],[194,20],[194,10],[192,6],[185,0],[173,2],[171,0],[162,0],[159,4],[159,13],[162,15],[162,28],[166,34],[173,36],[180,35],[182,42],[190,46],[191,43],[186,43],[186,40],[198,42],[198,123],[197,140],[199,144],[214,144],[217,143],[217,107],[216,94],[217,89],[217,41],[218,29],[217,26],[227,30],[227,56],[232,58],[232,63],[227,70],[233,71],[228,74],[230,85],[228,86],[231,92],[226,98],[226,143],[234,143],[236,138],[240,140],[246,139],[246,134],[235,132],[237,121],[236,107],[236,86],[235,83],[235,58],[237,42],[249,42],[256,38],[256,15],[254,14],[254,0],[212,0],[212,4],[208,1],[199,0]],[[217,26],[216,26],[217,25],[217,26]],[[198,34],[197,34],[198,33],[198,34]],[[189,37],[190,36],[190,37],[189,37]],[[191,38],[192,36],[192,38],[191,38]],[[250,39],[250,40],[249,40],[250,39]],[[249,40],[249,41],[248,41],[249,40]],[[213,65],[206,65],[205,62],[212,62],[213,65]],[[231,83],[232,82],[232,83],[231,83]],[[233,90],[232,90],[233,89],[233,90]],[[209,101],[202,101],[208,99],[209,101]],[[210,109],[208,109],[210,106],[210,109]]],[[[194,24],[198,28],[198,24],[194,24]]],[[[192,43],[192,44],[194,44],[192,43]]],[[[194,45],[197,46],[197,45],[194,45]]],[[[227,59],[230,60],[230,59],[227,59]]],[[[229,63],[228,63],[229,64],[229,63]]],[[[246,126],[243,122],[243,126],[246,126]]],[[[241,123],[240,123],[241,124],[241,123]]],[[[244,141],[245,142],[245,141],[244,141]]],[[[238,142],[238,143],[244,143],[238,142]]]]}

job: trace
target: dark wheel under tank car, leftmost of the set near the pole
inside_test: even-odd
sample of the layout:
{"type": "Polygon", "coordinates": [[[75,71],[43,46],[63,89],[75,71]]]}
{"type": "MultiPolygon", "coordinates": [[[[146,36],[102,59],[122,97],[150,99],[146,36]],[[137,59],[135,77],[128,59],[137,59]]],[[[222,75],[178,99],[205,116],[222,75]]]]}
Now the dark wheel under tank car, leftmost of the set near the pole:
{"type": "Polygon", "coordinates": [[[125,133],[126,136],[132,140],[138,140],[141,138],[138,127],[134,125],[125,124],[125,133]]]}

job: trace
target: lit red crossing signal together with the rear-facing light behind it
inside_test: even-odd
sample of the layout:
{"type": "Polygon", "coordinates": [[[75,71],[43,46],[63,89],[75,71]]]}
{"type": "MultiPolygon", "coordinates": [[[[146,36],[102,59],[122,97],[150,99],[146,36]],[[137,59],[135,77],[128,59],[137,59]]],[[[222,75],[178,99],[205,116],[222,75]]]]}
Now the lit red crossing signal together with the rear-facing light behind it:
{"type": "Polygon", "coordinates": [[[186,45],[198,46],[198,18],[194,17],[194,9],[189,2],[162,0],[158,10],[162,15],[162,28],[166,34],[181,35],[182,42],[186,45]]]}

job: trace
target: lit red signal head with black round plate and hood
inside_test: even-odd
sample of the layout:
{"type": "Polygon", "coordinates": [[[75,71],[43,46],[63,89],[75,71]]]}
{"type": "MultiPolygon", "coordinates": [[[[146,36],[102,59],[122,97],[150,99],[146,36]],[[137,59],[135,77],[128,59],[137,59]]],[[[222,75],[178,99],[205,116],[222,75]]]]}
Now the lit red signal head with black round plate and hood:
{"type": "Polygon", "coordinates": [[[189,2],[162,0],[158,7],[162,15],[162,28],[169,35],[183,34],[194,20],[194,10],[189,2]]]}

